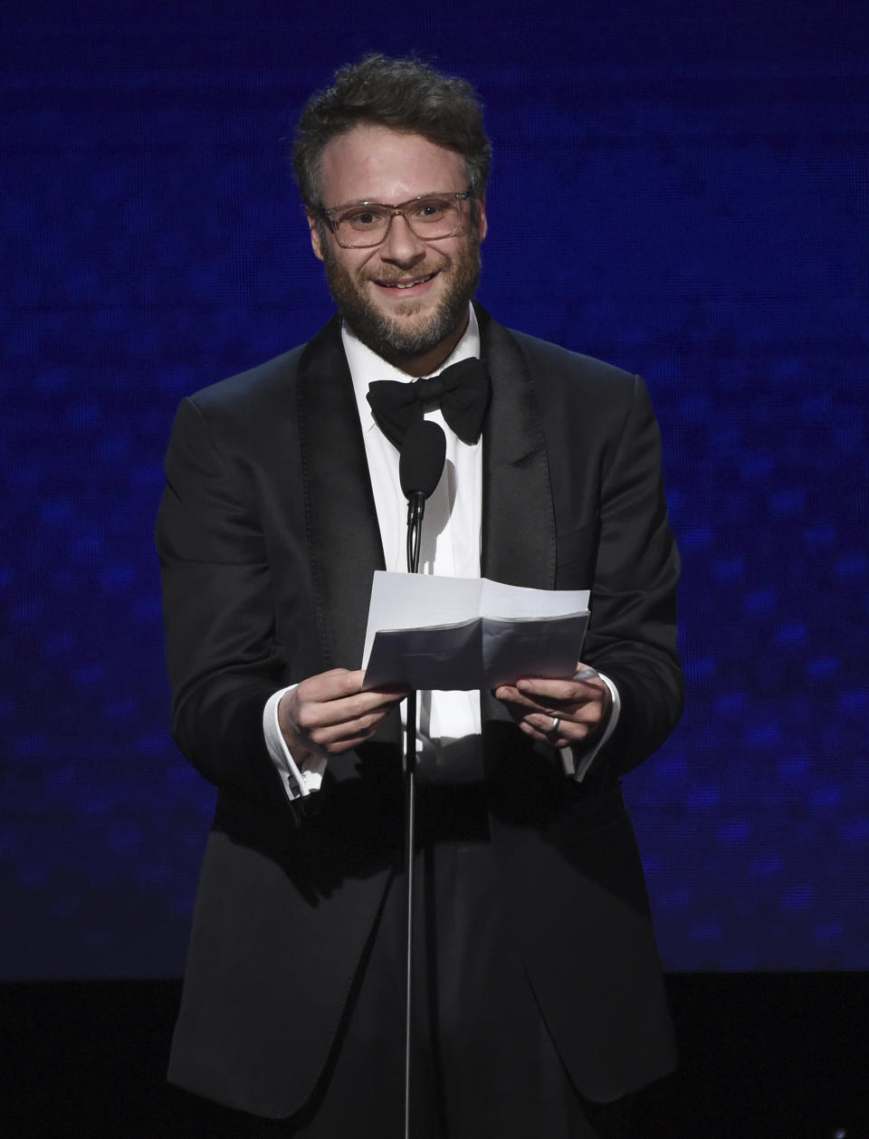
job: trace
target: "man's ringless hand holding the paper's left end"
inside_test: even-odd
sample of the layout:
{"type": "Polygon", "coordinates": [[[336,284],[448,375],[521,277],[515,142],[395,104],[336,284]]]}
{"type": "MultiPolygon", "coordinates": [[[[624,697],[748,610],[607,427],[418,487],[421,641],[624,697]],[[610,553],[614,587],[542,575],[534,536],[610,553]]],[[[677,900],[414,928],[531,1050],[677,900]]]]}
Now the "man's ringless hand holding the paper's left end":
{"type": "Polygon", "coordinates": [[[362,669],[331,669],[309,677],[281,697],[278,723],[296,763],[309,755],[339,755],[359,746],[408,695],[403,686],[363,693],[363,678],[362,669]]]}

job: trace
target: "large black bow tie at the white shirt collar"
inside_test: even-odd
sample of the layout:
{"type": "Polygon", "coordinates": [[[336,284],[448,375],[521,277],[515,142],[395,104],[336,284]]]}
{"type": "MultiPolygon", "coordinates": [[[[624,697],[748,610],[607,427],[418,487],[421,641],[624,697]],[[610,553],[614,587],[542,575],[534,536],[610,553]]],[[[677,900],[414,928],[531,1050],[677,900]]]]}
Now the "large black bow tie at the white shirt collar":
{"type": "Polygon", "coordinates": [[[482,360],[460,360],[440,376],[400,384],[378,379],[368,386],[368,402],[384,435],[401,450],[412,423],[427,408],[440,407],[448,427],[462,443],[476,443],[483,428],[492,386],[482,360]]]}

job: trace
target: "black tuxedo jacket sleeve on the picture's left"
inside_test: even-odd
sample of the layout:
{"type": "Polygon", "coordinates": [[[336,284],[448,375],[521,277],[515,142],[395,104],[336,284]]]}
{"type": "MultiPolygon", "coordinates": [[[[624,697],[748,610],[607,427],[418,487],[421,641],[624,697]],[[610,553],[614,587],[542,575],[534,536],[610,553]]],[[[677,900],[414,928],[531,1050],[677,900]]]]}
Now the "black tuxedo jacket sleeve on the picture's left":
{"type": "Polygon", "coordinates": [[[165,472],[156,543],[174,739],[211,782],[286,808],[262,730],[288,681],[249,464],[185,400],[165,472]]]}

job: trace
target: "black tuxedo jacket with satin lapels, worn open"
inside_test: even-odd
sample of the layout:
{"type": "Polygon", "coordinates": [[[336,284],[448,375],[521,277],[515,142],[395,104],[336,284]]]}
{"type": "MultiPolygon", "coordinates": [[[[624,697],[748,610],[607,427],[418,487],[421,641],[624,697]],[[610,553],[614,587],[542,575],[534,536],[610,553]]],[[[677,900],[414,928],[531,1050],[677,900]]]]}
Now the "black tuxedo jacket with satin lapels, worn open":
{"type": "MultiPolygon", "coordinates": [[[[583,657],[622,698],[615,732],[576,784],[482,697],[490,830],[516,942],[574,1083],[608,1100],[673,1064],[620,792],[682,702],[658,432],[638,377],[478,316],[493,386],[483,574],[591,585],[583,657]]],[[[186,400],[166,478],[157,543],[173,731],[219,788],[170,1079],[280,1117],[322,1071],[402,859],[395,714],[330,760],[306,816],[262,735],[277,688],[359,666],[384,564],[339,321],[186,400]]]]}

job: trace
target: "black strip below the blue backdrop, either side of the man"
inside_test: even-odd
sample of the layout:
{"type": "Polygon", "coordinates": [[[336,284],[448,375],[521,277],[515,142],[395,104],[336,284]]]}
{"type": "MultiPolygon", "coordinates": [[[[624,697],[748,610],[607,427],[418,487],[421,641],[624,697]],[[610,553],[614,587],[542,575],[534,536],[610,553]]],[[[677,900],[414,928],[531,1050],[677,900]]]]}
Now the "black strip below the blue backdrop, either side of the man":
{"type": "MultiPolygon", "coordinates": [[[[869,1139],[869,974],[667,983],[682,1066],[643,1093],[640,1139],[869,1139]]],[[[164,1082],[179,990],[177,981],[0,985],[0,1136],[227,1134],[164,1082]]]]}

